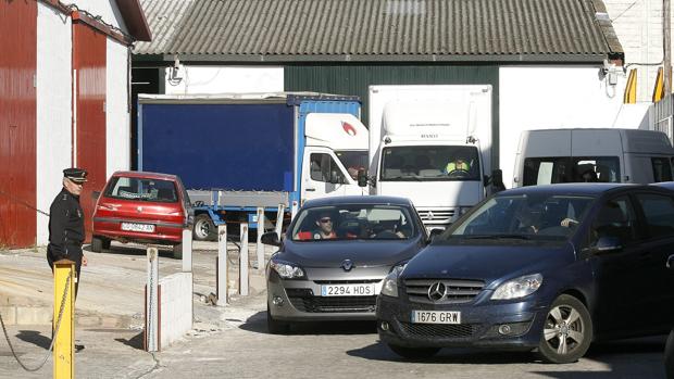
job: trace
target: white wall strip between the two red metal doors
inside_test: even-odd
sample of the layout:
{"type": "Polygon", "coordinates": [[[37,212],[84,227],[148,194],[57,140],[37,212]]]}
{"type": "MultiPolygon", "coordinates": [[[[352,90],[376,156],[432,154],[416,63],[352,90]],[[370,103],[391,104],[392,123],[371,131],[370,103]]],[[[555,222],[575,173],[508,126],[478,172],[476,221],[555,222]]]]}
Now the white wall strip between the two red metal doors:
{"type": "MultiPolygon", "coordinates": [[[[71,18],[37,3],[37,207],[49,206],[71,166],[72,147],[71,18]]],[[[37,243],[49,238],[49,219],[37,215],[37,243]]]]}

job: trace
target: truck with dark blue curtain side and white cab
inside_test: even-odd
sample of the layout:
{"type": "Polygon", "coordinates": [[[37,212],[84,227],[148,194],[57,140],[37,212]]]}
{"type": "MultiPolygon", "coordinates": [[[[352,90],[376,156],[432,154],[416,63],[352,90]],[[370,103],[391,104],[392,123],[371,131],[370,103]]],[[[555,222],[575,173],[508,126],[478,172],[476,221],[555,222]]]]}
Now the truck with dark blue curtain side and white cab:
{"type": "MultiPolygon", "coordinates": [[[[275,219],[304,200],[364,194],[367,129],[357,97],[321,93],[139,96],[138,169],[178,175],[195,238],[226,220],[275,219]]],[[[251,228],[254,224],[251,225],[251,228]]]]}

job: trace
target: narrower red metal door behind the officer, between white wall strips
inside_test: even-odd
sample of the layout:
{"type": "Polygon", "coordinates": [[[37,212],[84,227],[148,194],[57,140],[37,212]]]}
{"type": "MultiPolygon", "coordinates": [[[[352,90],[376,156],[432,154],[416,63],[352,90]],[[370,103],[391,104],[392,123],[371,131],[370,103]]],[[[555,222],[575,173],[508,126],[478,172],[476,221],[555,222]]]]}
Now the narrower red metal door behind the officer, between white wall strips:
{"type": "MultiPolygon", "coordinates": [[[[85,212],[87,240],[91,237],[92,191],[105,185],[105,35],[90,26],[73,23],[73,70],[75,93],[75,164],[89,172],[79,198],[85,212]]],[[[118,67],[126,70],[126,67],[118,67]]]]}

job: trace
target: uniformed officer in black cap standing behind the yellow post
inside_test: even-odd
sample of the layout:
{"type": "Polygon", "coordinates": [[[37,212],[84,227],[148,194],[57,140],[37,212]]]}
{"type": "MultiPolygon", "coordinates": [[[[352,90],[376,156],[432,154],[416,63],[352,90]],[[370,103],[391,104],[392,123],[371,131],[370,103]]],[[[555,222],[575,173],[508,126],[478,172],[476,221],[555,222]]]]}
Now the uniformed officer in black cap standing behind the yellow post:
{"type": "Polygon", "coordinates": [[[85,240],[84,213],[79,206],[82,187],[87,181],[87,170],[66,168],[63,170],[63,189],[49,207],[49,245],[47,262],[53,273],[53,263],[60,260],[75,262],[75,298],[79,283],[79,268],[87,265],[82,251],[85,240]]]}

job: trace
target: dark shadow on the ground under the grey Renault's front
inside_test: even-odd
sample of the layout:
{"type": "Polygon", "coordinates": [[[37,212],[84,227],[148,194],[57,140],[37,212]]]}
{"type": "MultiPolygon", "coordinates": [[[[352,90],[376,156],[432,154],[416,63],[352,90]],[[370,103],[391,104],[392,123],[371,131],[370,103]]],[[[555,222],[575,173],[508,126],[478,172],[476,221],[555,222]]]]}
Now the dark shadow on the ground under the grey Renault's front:
{"type": "MultiPolygon", "coordinates": [[[[266,329],[266,312],[258,312],[250,316],[239,328],[257,333],[269,333],[266,329]]],[[[317,334],[376,334],[374,321],[321,321],[292,323],[289,336],[317,334]]]]}

